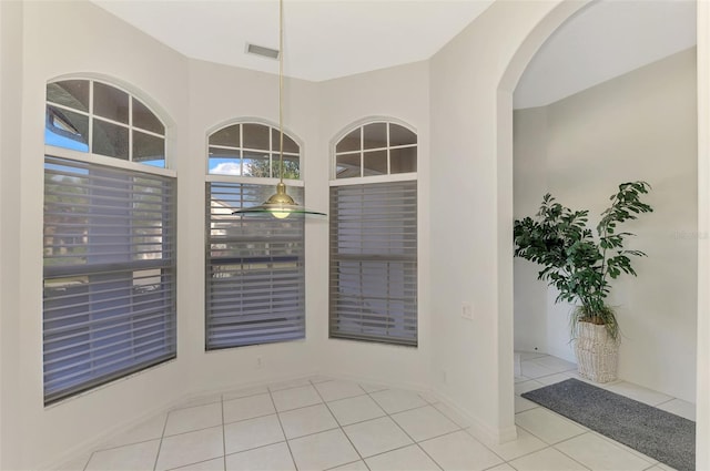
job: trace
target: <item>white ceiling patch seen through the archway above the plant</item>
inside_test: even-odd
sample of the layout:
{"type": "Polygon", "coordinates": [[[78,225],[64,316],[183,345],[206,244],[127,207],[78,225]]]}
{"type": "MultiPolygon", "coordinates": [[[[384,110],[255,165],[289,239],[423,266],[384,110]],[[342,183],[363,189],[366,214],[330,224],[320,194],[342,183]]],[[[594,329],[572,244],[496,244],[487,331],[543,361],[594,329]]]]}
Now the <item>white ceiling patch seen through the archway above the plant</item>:
{"type": "Polygon", "coordinates": [[[696,2],[601,0],[540,48],[515,91],[516,109],[544,106],[696,44],[696,2]]]}

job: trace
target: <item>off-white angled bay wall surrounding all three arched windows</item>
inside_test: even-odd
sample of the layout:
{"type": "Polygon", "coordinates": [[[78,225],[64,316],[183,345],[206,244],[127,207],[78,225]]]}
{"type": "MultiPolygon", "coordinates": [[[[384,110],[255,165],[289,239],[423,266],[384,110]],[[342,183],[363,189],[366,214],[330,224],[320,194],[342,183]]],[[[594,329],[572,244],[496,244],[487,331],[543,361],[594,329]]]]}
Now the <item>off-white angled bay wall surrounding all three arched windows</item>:
{"type": "MultiPolygon", "coordinates": [[[[20,204],[8,207],[7,212],[3,207],[2,213],[3,227],[10,218],[13,219],[9,226],[17,227],[17,234],[2,233],[3,278],[6,274],[12,274],[17,280],[17,290],[6,290],[12,286],[12,280],[3,285],[1,300],[3,337],[0,346],[13,354],[2,356],[0,370],[4,386],[2,430],[12,431],[12,439],[3,434],[3,469],[57,463],[114,429],[124,428],[194,393],[303,377],[320,370],[403,386],[428,386],[428,291],[422,280],[423,334],[418,349],[327,340],[327,257],[324,256],[327,222],[324,221],[306,223],[308,340],[205,352],[204,229],[201,222],[204,221],[205,204],[206,134],[230,120],[244,116],[277,123],[277,78],[189,60],[87,1],[12,4],[13,10],[6,8],[3,2],[3,19],[16,21],[13,28],[3,28],[3,44],[6,37],[22,39],[24,31],[24,45],[13,44],[10,54],[3,53],[2,75],[3,113],[13,119],[22,115],[21,121],[13,121],[16,127],[7,127],[17,131],[16,135],[21,135],[21,140],[2,141],[2,194],[10,195],[10,199],[3,197],[2,203],[17,203],[17,195],[20,195],[20,204]],[[57,24],[62,28],[57,29],[57,24]],[[51,40],[50,35],[37,33],[50,30],[51,40]],[[6,69],[6,61],[14,68],[6,69]],[[14,74],[6,72],[10,70],[14,74]],[[44,408],[42,294],[41,283],[38,283],[42,277],[40,188],[43,182],[44,89],[48,81],[65,74],[89,74],[122,84],[146,99],[170,123],[171,164],[180,181],[179,344],[176,360],[44,408]],[[20,84],[23,86],[21,94],[17,93],[20,84]],[[12,85],[13,96],[17,96],[14,102],[7,102],[7,107],[6,85],[12,85]],[[6,152],[6,147],[12,152],[6,152]],[[6,240],[14,244],[8,245],[6,240]],[[387,361],[382,361],[382,357],[387,361]],[[261,368],[256,367],[257,358],[261,368]],[[373,369],[374,364],[381,368],[373,369]],[[12,402],[8,405],[10,400],[12,402]]],[[[414,125],[419,134],[419,168],[426,171],[427,90],[426,63],[333,81],[322,86],[287,79],[284,122],[286,130],[304,143],[306,204],[327,211],[327,142],[343,127],[365,116],[394,116],[414,125]],[[404,81],[409,85],[399,86],[404,81]],[[321,103],[326,105],[321,107],[321,103]],[[348,111],[344,113],[343,110],[348,111]]],[[[420,187],[425,212],[426,182],[420,187]]],[[[426,216],[420,227],[424,270],[426,216]]],[[[426,280],[426,276],[423,278],[426,280]]]]}

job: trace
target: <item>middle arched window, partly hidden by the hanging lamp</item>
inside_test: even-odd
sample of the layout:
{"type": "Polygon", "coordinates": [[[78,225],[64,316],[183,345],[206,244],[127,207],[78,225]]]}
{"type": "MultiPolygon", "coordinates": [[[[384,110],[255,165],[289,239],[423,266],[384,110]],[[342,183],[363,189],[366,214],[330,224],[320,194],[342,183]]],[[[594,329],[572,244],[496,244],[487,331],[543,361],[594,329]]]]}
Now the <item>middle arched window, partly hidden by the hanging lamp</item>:
{"type": "MultiPolygon", "coordinates": [[[[206,349],[305,337],[304,221],[250,218],[281,175],[278,131],[241,122],[209,135],[206,176],[206,349]]],[[[301,147],[284,134],[284,178],[303,203],[301,147]]]]}

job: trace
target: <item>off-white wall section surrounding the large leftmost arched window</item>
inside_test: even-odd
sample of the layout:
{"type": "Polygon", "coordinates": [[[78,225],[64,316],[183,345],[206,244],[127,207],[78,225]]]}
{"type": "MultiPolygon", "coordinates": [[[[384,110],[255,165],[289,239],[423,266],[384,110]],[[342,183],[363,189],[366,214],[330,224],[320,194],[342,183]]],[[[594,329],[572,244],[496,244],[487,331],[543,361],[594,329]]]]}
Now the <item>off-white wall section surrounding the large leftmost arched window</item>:
{"type": "MultiPolygon", "coordinates": [[[[184,125],[187,116],[187,70],[183,57],[88,1],[2,3],[3,8],[6,3],[21,3],[22,10],[16,18],[22,30],[22,47],[16,50],[21,54],[22,81],[14,91],[21,95],[21,110],[13,110],[12,116],[20,123],[21,144],[19,152],[8,155],[3,150],[2,154],[2,192],[6,180],[13,182],[9,188],[11,199],[22,215],[14,221],[14,244],[4,237],[2,240],[3,250],[11,247],[17,253],[17,263],[7,268],[14,280],[2,286],[3,295],[17,296],[12,310],[3,307],[2,311],[2,335],[10,327],[7,335],[13,337],[12,351],[3,351],[2,361],[11,361],[19,369],[11,385],[3,381],[3,397],[10,393],[14,399],[13,416],[2,418],[2,427],[12,436],[3,436],[3,447],[13,447],[13,458],[3,463],[3,469],[42,469],[49,463],[58,464],[55,460],[85,448],[116,427],[164,409],[185,386],[185,362],[179,351],[176,360],[146,372],[49,407],[43,405],[41,188],[47,82],[65,74],[90,74],[150,98],[149,103],[160,107],[160,114],[168,119],[169,132],[178,136],[170,143],[178,150],[175,157],[184,160],[186,154],[181,150],[185,146],[180,137],[183,130],[175,129],[175,123],[184,125]],[[51,34],[40,33],[48,31],[51,34]]],[[[2,218],[4,223],[4,208],[2,218]]],[[[3,236],[7,234],[14,237],[13,233],[3,232],[3,236]]]]}

